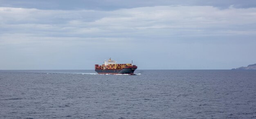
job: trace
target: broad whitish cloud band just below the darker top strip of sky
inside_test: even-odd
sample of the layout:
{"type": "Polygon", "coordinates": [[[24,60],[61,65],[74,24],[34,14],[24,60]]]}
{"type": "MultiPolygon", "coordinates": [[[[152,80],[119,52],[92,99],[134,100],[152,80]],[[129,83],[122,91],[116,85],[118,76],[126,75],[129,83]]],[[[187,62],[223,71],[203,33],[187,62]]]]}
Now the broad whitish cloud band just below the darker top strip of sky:
{"type": "Polygon", "coordinates": [[[158,6],[116,11],[0,8],[3,33],[40,37],[144,37],[254,34],[256,8],[158,6]]]}

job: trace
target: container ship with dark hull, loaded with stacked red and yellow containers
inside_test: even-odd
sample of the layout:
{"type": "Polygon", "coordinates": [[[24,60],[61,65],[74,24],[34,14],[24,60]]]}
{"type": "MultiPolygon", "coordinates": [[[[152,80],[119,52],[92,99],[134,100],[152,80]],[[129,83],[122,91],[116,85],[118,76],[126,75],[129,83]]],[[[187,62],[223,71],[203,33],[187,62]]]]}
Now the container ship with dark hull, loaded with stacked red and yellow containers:
{"type": "Polygon", "coordinates": [[[134,75],[134,71],[137,69],[136,65],[132,64],[116,64],[111,58],[108,61],[105,60],[104,64],[95,64],[95,71],[99,74],[129,74],[134,75]]]}

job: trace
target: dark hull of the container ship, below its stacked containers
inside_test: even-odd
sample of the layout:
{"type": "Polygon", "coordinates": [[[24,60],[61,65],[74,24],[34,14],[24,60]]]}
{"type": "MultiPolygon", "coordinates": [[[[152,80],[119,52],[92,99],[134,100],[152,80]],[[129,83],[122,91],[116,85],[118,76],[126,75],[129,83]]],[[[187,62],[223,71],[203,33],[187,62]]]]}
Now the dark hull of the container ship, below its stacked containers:
{"type": "Polygon", "coordinates": [[[136,68],[105,69],[105,70],[95,69],[95,71],[99,74],[129,74],[129,75],[134,75],[135,70],[136,68]]]}

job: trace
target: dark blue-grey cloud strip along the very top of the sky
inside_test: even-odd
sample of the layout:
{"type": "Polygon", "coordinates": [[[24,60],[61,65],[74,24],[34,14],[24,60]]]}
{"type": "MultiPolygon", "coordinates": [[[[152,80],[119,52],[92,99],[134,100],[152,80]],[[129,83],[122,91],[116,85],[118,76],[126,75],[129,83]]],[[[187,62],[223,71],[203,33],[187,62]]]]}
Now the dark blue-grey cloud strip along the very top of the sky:
{"type": "Polygon", "coordinates": [[[256,7],[255,0],[1,0],[1,7],[21,7],[36,9],[91,9],[91,10],[116,10],[136,7],[154,6],[213,6],[228,8],[233,5],[236,8],[256,7]]]}

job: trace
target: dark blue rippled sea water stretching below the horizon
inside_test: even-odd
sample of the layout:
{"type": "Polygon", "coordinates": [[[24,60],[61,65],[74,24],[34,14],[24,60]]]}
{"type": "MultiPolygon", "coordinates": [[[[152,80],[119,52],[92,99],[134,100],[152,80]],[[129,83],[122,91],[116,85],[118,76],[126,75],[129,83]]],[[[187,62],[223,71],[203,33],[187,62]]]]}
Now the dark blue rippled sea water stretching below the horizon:
{"type": "Polygon", "coordinates": [[[256,71],[0,71],[0,119],[256,118],[256,71]]]}

